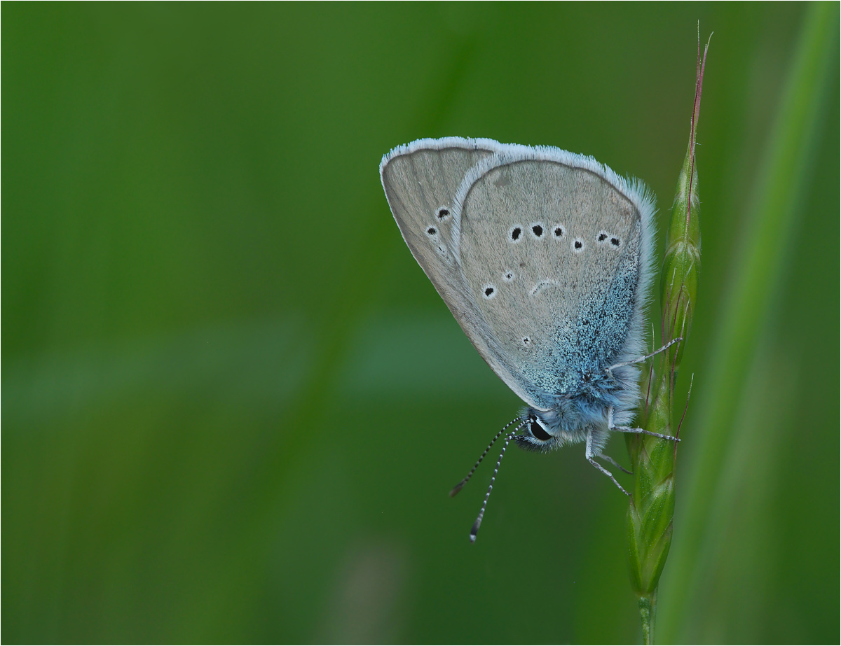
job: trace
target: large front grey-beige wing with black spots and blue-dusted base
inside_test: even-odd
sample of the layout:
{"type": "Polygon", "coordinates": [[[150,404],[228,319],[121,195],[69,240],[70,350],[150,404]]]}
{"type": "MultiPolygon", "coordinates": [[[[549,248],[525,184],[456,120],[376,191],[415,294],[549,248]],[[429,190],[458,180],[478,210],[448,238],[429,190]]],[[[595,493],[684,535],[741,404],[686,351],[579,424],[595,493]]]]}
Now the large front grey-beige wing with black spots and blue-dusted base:
{"type": "Polygon", "coordinates": [[[643,186],[558,149],[505,146],[465,176],[453,209],[463,290],[526,402],[552,407],[638,355],[653,212],[643,186]]]}

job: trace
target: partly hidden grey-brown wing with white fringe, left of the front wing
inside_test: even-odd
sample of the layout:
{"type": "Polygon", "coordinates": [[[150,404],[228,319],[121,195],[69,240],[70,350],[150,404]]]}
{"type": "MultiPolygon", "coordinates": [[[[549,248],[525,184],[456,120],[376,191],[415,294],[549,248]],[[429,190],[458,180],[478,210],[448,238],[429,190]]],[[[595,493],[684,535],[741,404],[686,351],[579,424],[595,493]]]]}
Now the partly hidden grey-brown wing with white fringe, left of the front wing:
{"type": "Polygon", "coordinates": [[[502,148],[492,139],[419,139],[385,155],[380,176],[403,239],[468,339],[511,390],[536,406],[465,285],[453,237],[458,186],[474,165],[502,148]]]}

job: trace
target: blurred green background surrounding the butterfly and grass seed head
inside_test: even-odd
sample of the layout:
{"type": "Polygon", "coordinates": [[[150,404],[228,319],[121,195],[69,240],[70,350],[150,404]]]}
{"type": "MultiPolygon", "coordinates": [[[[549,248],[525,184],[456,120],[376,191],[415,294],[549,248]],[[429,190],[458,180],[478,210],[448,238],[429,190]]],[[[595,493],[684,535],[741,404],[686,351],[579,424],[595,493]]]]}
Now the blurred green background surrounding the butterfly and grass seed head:
{"type": "Polygon", "coordinates": [[[815,6],[4,3],[3,641],[637,641],[627,502],[583,447],[511,451],[468,543],[490,466],[447,491],[520,402],[378,163],[419,137],[557,145],[647,181],[662,231],[700,19],[659,638],[837,643],[838,5],[817,10],[803,181],[698,516],[711,356],[815,6]]]}

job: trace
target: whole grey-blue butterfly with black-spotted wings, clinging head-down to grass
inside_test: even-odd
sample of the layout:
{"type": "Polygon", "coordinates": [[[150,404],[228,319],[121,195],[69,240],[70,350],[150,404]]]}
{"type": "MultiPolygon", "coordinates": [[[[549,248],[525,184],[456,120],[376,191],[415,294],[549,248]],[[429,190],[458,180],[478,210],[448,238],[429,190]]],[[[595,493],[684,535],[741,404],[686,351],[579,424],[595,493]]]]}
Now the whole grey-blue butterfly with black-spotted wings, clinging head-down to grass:
{"type": "MultiPolygon", "coordinates": [[[[526,407],[505,449],[585,443],[597,459],[639,400],[655,207],[641,181],[592,157],[493,139],[418,139],[383,156],[380,177],[405,243],[473,347],[526,407]]],[[[677,341],[680,339],[674,339],[677,341]]],[[[672,343],[674,343],[674,341],[672,343]]],[[[512,428],[513,427],[513,428],[512,428]]],[[[624,469],[622,469],[624,470],[624,469]]]]}

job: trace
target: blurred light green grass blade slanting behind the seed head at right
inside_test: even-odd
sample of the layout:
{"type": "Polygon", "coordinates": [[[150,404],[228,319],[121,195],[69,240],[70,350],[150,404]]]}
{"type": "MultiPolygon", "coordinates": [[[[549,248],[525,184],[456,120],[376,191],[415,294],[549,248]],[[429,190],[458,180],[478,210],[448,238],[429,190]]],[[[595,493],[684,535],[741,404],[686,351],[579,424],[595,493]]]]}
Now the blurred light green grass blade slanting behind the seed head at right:
{"type": "Polygon", "coordinates": [[[680,540],[674,545],[665,586],[659,627],[664,642],[680,638],[679,628],[689,612],[700,574],[697,555],[711,525],[711,510],[752,364],[771,299],[780,281],[807,171],[817,150],[817,123],[828,98],[826,88],[833,56],[837,55],[836,7],[813,4],[801,27],[796,52],[775,118],[766,162],[759,172],[743,251],[719,320],[721,328],[712,344],[708,384],[701,400],[701,421],[693,433],[696,461],[686,480],[686,499],[680,508],[680,540]],[[682,522],[681,522],[682,521],[682,522]]]}

